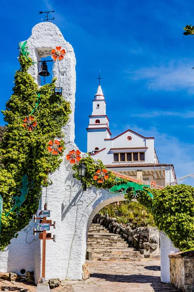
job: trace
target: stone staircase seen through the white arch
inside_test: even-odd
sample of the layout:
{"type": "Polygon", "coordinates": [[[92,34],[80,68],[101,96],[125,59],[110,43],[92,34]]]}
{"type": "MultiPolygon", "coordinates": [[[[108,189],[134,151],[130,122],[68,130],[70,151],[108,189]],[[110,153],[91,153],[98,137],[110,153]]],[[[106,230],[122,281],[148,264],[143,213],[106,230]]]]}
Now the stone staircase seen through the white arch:
{"type": "Polygon", "coordinates": [[[119,234],[110,233],[100,223],[91,223],[88,230],[87,253],[89,260],[138,261],[144,256],[119,234]]]}

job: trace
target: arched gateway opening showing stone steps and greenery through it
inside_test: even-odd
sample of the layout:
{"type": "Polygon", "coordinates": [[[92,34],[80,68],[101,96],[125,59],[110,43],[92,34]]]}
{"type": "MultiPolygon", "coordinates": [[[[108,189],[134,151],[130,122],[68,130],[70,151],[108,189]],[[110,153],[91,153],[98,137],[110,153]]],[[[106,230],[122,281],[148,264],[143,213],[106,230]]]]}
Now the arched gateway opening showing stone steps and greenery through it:
{"type": "Polygon", "coordinates": [[[160,256],[159,230],[153,216],[137,200],[114,200],[98,210],[89,223],[87,259],[132,261],[160,256]]]}

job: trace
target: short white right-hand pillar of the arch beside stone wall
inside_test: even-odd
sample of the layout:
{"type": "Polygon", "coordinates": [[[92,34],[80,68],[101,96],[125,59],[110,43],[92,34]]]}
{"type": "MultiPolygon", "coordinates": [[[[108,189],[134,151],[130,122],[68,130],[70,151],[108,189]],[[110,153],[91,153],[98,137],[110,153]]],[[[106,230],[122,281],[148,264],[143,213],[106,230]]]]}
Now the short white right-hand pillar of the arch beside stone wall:
{"type": "Polygon", "coordinates": [[[160,232],[161,245],[161,282],[170,283],[170,258],[168,255],[179,252],[179,249],[174,247],[172,241],[166,234],[160,232]]]}

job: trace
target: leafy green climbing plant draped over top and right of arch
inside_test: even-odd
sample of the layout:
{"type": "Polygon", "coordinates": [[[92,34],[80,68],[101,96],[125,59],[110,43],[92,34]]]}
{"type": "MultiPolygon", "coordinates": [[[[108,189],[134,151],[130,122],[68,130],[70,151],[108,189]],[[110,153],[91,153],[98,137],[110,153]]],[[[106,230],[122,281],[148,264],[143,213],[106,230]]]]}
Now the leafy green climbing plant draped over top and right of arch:
{"type": "MultiPolygon", "coordinates": [[[[116,180],[116,175],[108,171],[109,177],[103,183],[93,180],[98,168],[106,167],[100,160],[94,161],[90,156],[82,158],[79,164],[85,164],[86,174],[82,179],[88,187],[90,185],[107,190],[116,185],[130,185],[129,180],[116,180]]],[[[78,170],[78,164],[73,165],[78,170]]],[[[75,174],[79,179],[78,171],[75,174]]],[[[122,189],[121,189],[122,190],[122,189]]],[[[151,189],[153,199],[149,195],[149,189],[139,190],[137,200],[144,205],[153,215],[156,226],[164,231],[174,245],[181,251],[194,249],[194,187],[185,184],[166,186],[164,189],[151,189]]],[[[133,196],[131,187],[126,188],[125,198],[129,201],[133,196]]]]}

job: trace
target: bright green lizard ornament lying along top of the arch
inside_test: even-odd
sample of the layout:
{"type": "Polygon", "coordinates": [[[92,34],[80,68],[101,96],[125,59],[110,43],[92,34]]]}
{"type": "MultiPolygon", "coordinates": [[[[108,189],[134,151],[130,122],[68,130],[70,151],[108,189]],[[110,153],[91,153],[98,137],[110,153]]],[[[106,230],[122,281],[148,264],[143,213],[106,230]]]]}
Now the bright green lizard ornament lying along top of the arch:
{"type": "MultiPolygon", "coordinates": [[[[123,180],[121,179],[115,179],[116,182],[122,182],[123,180]]],[[[134,182],[128,182],[128,183],[121,183],[118,185],[114,185],[109,192],[118,192],[119,190],[123,189],[123,194],[126,194],[126,191],[129,187],[132,188],[133,191],[133,198],[137,198],[138,197],[138,191],[144,191],[146,192],[151,199],[153,199],[153,195],[146,190],[144,187],[150,187],[150,185],[146,185],[146,184],[138,184],[138,183],[134,183],[134,182]]]]}

